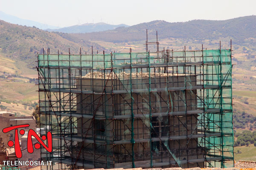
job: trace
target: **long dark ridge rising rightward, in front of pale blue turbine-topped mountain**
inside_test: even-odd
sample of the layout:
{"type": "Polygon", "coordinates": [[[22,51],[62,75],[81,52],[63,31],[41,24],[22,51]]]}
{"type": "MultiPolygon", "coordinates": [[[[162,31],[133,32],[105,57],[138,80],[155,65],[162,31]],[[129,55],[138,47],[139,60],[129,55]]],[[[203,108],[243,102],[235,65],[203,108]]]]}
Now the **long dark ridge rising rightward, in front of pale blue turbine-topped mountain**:
{"type": "Polygon", "coordinates": [[[156,31],[158,31],[158,38],[162,39],[169,37],[196,40],[232,38],[236,42],[242,43],[248,38],[256,38],[256,16],[238,17],[230,20],[191,20],[177,23],[155,20],[108,31],[58,34],[67,39],[130,42],[145,40],[146,29],[148,29],[149,38],[155,38],[156,31]]]}

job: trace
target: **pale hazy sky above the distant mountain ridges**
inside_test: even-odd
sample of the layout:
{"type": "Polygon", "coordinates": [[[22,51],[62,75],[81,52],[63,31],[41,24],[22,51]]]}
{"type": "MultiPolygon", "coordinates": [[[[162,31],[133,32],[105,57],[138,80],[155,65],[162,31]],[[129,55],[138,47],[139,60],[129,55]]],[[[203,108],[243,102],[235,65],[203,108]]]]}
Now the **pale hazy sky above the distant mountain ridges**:
{"type": "Polygon", "coordinates": [[[52,26],[135,25],[152,20],[226,20],[256,15],[256,0],[0,0],[0,11],[52,26]]]}

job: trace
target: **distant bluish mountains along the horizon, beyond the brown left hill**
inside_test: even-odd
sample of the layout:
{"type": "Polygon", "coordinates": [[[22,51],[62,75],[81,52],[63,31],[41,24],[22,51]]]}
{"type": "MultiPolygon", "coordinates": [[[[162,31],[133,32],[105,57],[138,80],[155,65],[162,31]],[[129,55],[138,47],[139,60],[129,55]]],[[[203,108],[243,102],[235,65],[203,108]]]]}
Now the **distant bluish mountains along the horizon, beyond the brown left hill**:
{"type": "MultiPolygon", "coordinates": [[[[23,20],[1,11],[0,20],[22,26],[45,28],[44,24],[23,20]]],[[[230,38],[234,43],[241,44],[246,43],[250,38],[256,38],[256,16],[238,17],[230,20],[191,20],[177,23],[155,20],[134,26],[88,23],[58,29],[55,26],[48,26],[46,31],[55,32],[62,38],[77,43],[91,40],[118,43],[144,41],[146,29],[148,29],[149,39],[155,39],[156,31],[158,31],[158,38],[160,39],[172,37],[195,40],[223,40],[224,38],[230,38]]],[[[255,42],[253,41],[253,43],[255,42]]]]}

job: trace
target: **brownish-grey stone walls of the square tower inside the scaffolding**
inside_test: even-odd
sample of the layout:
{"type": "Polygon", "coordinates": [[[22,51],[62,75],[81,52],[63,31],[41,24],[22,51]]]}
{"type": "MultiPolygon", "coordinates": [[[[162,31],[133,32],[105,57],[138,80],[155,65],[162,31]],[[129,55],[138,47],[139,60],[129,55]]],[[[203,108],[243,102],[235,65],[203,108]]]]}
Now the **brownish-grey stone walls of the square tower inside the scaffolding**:
{"type": "MultiPolygon", "coordinates": [[[[124,162],[130,166],[133,145],[131,144],[132,119],[127,116],[131,117],[132,111],[135,117],[133,139],[137,140],[133,146],[135,164],[150,160],[151,151],[154,163],[175,161],[171,155],[178,156],[180,160],[204,158],[204,148],[197,147],[197,139],[190,139],[189,142],[184,138],[179,139],[179,136],[197,134],[197,115],[185,115],[185,111],[197,109],[197,91],[179,90],[179,88],[195,86],[195,76],[153,77],[150,82],[148,77],[106,79],[92,80],[85,77],[76,82],[79,90],[99,93],[77,94],[76,96],[77,113],[89,116],[94,112],[96,118],[94,122],[89,118],[77,119],[78,136],[82,136],[81,132],[83,131],[83,136],[86,138],[109,143],[106,147],[97,145],[98,147],[94,149],[93,144],[88,146],[88,143],[85,143],[84,147],[87,147],[82,152],[84,155],[88,155],[87,161],[93,162],[95,158],[89,155],[95,153],[97,162],[104,164],[106,157],[101,155],[108,154],[114,155],[114,158],[107,157],[108,161],[112,162],[111,164],[115,162],[115,167],[119,164],[124,166],[124,162]],[[104,86],[105,84],[106,86],[104,86]],[[151,84],[150,96],[148,95],[149,84],[151,84]],[[112,88],[115,94],[111,94],[112,88]],[[172,90],[168,91],[168,88],[172,90]],[[106,94],[102,95],[102,92],[106,92],[106,94]],[[152,115],[151,125],[150,112],[152,115]],[[169,112],[184,112],[184,114],[168,116],[169,112]],[[115,119],[117,117],[119,118],[115,119]],[[168,140],[169,136],[176,136],[177,140],[168,140]],[[114,147],[113,144],[115,144],[114,147]],[[108,150],[107,153],[105,150],[108,150]]],[[[183,165],[183,167],[187,166],[183,165]]],[[[204,161],[189,166],[204,167],[204,161]]]]}

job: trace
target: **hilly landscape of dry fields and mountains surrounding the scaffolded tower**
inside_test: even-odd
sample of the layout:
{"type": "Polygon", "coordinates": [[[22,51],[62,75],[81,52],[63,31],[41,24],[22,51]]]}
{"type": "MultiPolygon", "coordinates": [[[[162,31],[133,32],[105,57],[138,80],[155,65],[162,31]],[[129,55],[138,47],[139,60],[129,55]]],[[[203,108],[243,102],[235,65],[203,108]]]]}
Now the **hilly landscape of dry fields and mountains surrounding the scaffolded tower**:
{"type": "MultiPolygon", "coordinates": [[[[96,53],[132,52],[145,51],[145,29],[150,29],[149,40],[156,41],[155,31],[158,29],[159,49],[173,49],[174,51],[218,49],[221,40],[221,49],[230,48],[232,39],[233,50],[233,122],[236,132],[244,130],[256,130],[256,17],[254,24],[247,26],[247,34],[244,32],[228,32],[220,29],[221,26],[209,28],[211,22],[194,21],[204,30],[198,31],[194,24],[176,23],[169,24],[160,21],[142,23],[131,27],[116,28],[109,31],[93,33],[59,33],[43,31],[35,27],[18,26],[0,20],[0,111],[10,111],[18,116],[32,115],[38,102],[37,65],[36,55],[43,53],[43,48],[50,48],[51,54],[59,53],[91,54],[91,46],[96,53]],[[207,24],[206,24],[207,23],[207,24]],[[177,31],[180,25],[191,29],[189,33],[183,28],[177,31]],[[169,26],[170,25],[170,26],[169,26]],[[207,25],[207,26],[205,26],[207,25]],[[169,26],[169,27],[168,27],[169,26]],[[208,29],[208,30],[207,30],[208,29]],[[218,31],[209,31],[216,29],[218,31]],[[169,30],[169,31],[166,31],[169,30]],[[170,32],[171,30],[171,32],[170,32]],[[196,33],[198,31],[198,33],[196,33]],[[208,34],[207,31],[212,34],[208,34]],[[223,32],[221,32],[223,31],[223,32]],[[249,36],[252,35],[252,36],[249,36]],[[193,35],[193,36],[192,36],[193,35]],[[200,36],[199,36],[200,35],[200,36]],[[234,36],[232,36],[234,35],[234,36]]],[[[233,28],[233,21],[222,22],[233,28]]],[[[237,27],[243,25],[248,18],[236,19],[237,27]]],[[[221,24],[222,24],[221,23],[221,24]]],[[[218,25],[218,24],[217,24],[218,25]]],[[[156,46],[149,46],[150,51],[156,51],[156,46]]],[[[253,144],[248,146],[237,146],[235,159],[253,160],[253,155],[247,155],[247,150],[253,153],[256,147],[253,144]]]]}

